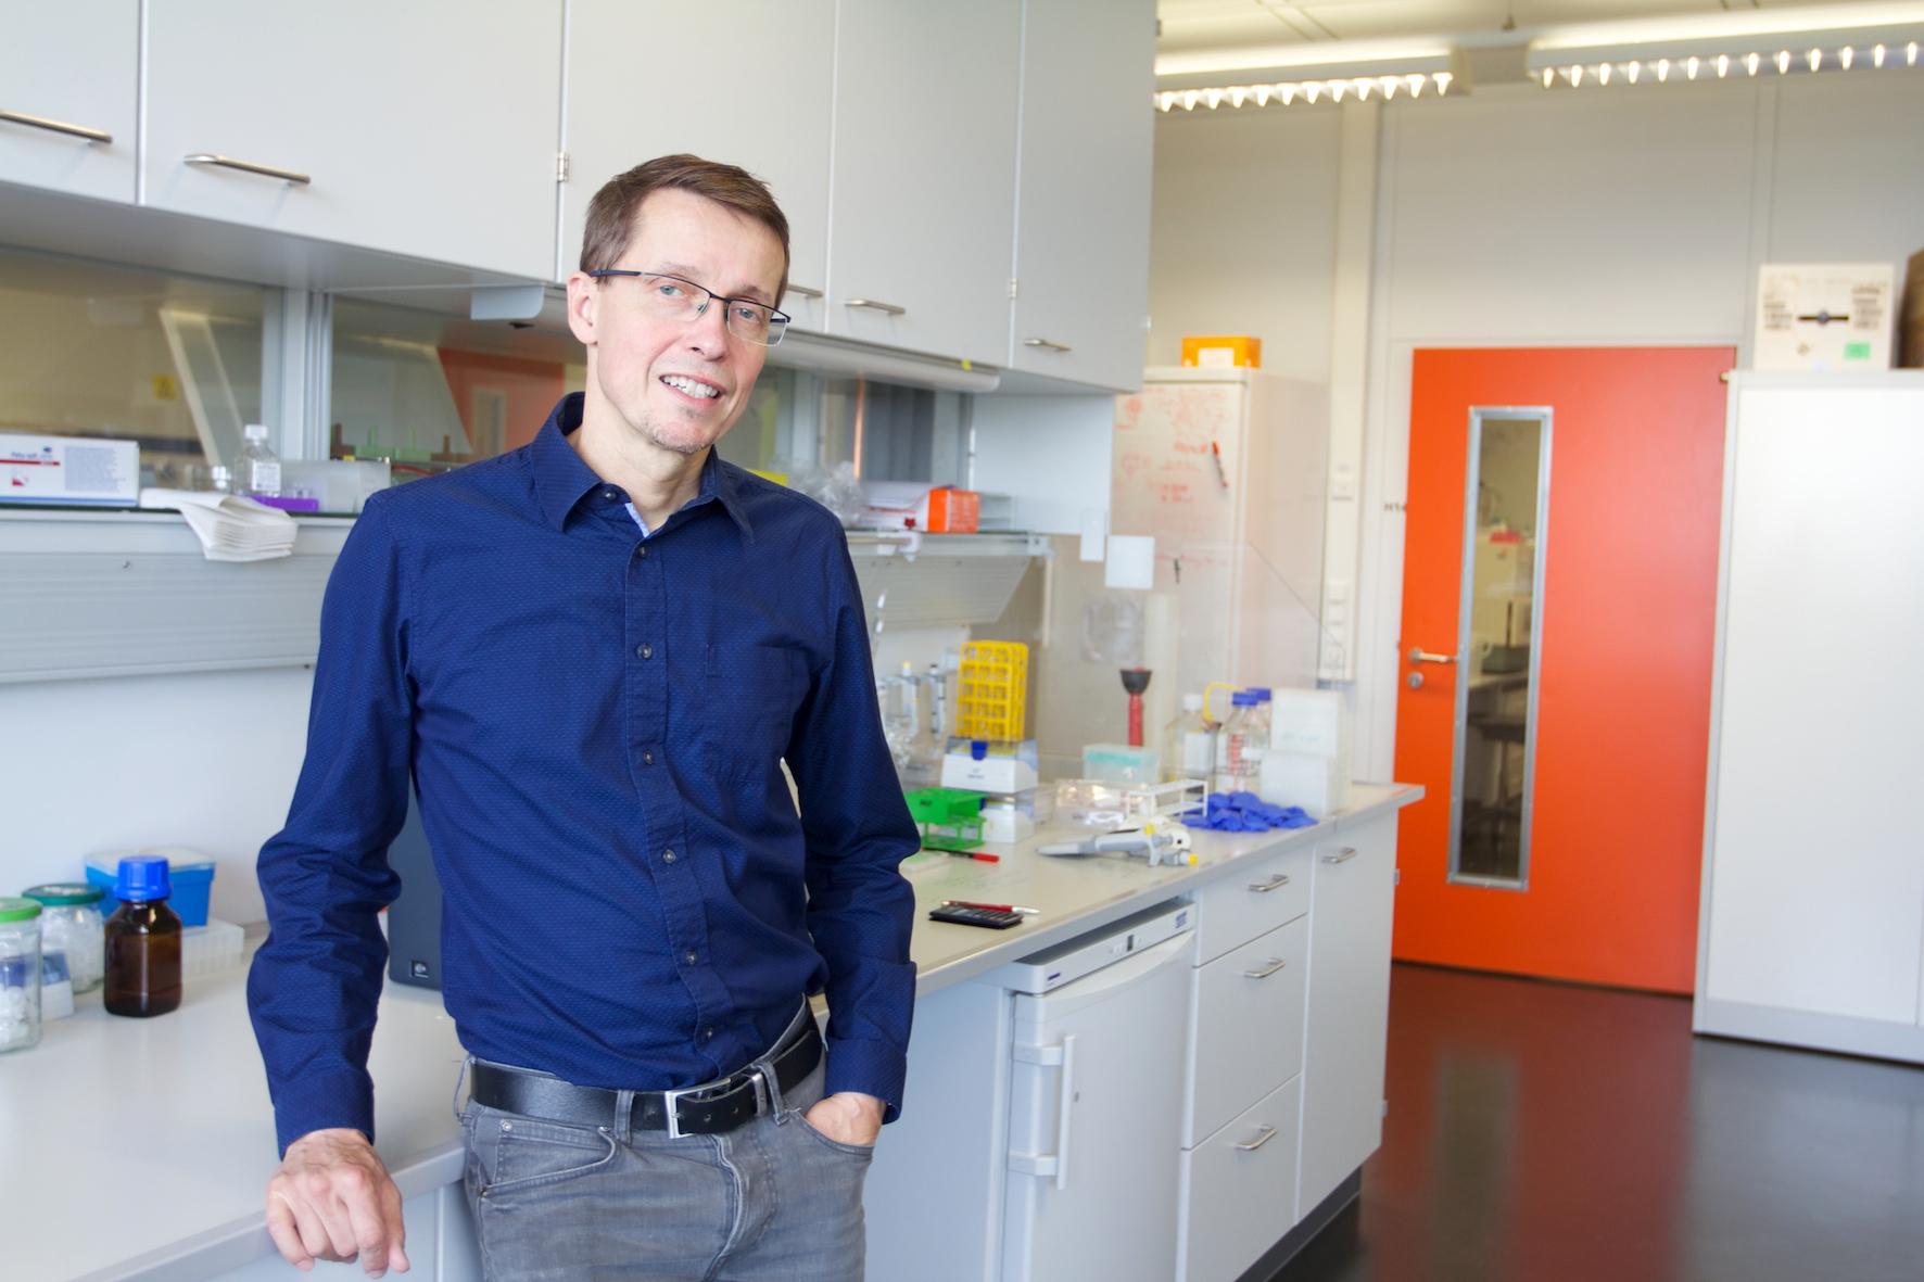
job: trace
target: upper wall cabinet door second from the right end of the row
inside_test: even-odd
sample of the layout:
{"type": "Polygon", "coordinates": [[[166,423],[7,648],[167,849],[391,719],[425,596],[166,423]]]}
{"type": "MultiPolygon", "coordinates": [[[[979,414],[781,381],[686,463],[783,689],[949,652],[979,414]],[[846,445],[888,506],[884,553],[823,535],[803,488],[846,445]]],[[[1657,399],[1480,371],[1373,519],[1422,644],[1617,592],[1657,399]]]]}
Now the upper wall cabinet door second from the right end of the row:
{"type": "Polygon", "coordinates": [[[843,0],[829,333],[1008,360],[1020,62],[1022,0],[843,0]]]}

